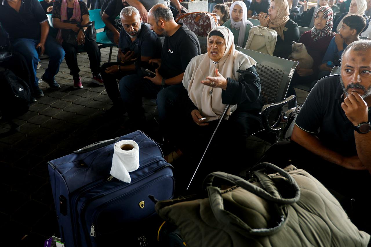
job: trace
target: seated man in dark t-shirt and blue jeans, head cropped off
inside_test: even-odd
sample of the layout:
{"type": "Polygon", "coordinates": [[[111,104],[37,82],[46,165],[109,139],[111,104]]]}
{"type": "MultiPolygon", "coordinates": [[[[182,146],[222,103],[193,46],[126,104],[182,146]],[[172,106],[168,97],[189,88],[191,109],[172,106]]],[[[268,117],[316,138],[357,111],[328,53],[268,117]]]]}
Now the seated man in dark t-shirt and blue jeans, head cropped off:
{"type": "Polygon", "coordinates": [[[49,23],[43,8],[37,0],[1,0],[0,22],[9,33],[13,49],[21,53],[29,67],[33,68],[31,79],[35,96],[43,96],[36,77],[36,67],[39,55],[44,52],[49,55],[49,66],[42,80],[50,88],[58,89],[54,76],[59,71],[65,52],[53,37],[48,36],[49,23]]]}

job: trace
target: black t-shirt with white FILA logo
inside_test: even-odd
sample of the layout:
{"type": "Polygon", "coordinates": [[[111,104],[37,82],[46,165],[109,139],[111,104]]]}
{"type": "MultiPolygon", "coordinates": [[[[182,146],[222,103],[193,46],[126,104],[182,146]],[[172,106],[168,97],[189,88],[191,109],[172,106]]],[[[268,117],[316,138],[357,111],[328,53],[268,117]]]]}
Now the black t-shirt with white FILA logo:
{"type": "Polygon", "coordinates": [[[160,75],[172,78],[185,71],[191,59],[201,54],[200,43],[196,34],[183,23],[172,36],[166,36],[161,52],[160,75]]]}

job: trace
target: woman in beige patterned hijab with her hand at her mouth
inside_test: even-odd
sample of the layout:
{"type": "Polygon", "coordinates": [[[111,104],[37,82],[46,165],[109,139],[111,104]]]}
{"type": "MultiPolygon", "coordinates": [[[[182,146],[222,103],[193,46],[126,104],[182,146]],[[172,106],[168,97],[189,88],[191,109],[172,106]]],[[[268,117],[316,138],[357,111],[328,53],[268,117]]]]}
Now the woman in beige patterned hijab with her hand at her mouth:
{"type": "Polygon", "coordinates": [[[289,17],[287,0],[272,0],[268,14],[260,14],[260,26],[269,27],[277,31],[277,42],[273,56],[287,59],[291,54],[292,42],[299,40],[299,27],[289,17]]]}

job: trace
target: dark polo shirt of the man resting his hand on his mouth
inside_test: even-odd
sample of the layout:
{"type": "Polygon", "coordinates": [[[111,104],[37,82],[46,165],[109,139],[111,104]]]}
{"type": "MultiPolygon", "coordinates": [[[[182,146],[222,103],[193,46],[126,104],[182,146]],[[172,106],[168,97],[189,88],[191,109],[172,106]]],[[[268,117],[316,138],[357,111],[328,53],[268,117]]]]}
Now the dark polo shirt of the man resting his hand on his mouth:
{"type": "MultiPolygon", "coordinates": [[[[341,108],[344,91],[340,75],[317,82],[295,120],[302,130],[315,134],[327,148],[344,156],[357,155],[352,123],[341,108]]],[[[368,108],[368,121],[371,121],[368,108]]]]}

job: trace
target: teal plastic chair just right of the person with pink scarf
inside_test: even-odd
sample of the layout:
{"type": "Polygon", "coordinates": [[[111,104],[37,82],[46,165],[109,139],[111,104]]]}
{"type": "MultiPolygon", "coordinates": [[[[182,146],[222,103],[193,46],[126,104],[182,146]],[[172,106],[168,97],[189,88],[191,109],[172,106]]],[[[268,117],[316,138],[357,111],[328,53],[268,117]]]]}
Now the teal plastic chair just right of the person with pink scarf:
{"type": "MultiPolygon", "coordinates": [[[[105,27],[105,24],[101,17],[101,10],[100,9],[93,9],[89,10],[90,21],[94,21],[95,29],[101,29],[105,27]]],[[[112,56],[112,47],[116,46],[116,44],[112,43],[111,40],[108,39],[107,34],[105,32],[97,32],[96,33],[96,43],[99,49],[110,47],[109,48],[109,57],[108,62],[111,62],[112,56]]]]}

